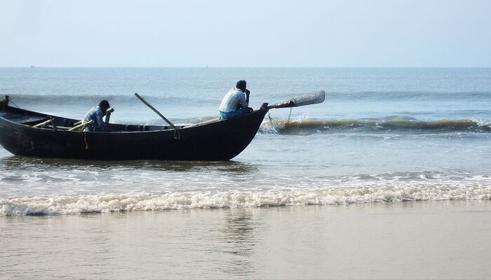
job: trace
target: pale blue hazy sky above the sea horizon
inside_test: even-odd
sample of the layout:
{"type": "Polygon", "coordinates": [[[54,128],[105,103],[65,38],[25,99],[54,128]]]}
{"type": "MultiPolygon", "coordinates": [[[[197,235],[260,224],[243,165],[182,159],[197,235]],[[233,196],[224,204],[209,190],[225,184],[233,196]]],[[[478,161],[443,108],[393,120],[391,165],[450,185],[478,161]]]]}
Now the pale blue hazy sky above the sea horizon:
{"type": "Polygon", "coordinates": [[[491,0],[0,0],[0,67],[490,67],[491,0]]]}

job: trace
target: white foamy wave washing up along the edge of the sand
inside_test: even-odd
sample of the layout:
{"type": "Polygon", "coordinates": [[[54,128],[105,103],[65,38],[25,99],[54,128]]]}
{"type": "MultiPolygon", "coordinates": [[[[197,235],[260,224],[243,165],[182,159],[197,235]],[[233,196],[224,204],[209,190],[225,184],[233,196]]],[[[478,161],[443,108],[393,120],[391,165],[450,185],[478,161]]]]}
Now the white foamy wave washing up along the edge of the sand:
{"type": "Polygon", "coordinates": [[[56,195],[2,200],[0,216],[490,199],[490,186],[448,185],[56,195]]]}

